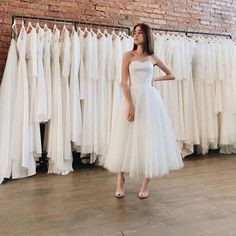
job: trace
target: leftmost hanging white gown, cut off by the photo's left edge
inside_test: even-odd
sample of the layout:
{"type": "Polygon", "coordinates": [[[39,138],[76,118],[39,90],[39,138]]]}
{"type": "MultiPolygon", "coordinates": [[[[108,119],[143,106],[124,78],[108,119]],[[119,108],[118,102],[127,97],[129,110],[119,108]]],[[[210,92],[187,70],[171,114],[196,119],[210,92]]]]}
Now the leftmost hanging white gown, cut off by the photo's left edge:
{"type": "Polygon", "coordinates": [[[0,87],[0,184],[11,176],[11,158],[9,155],[12,132],[14,96],[17,84],[18,55],[16,41],[11,40],[7,62],[0,87]]]}

